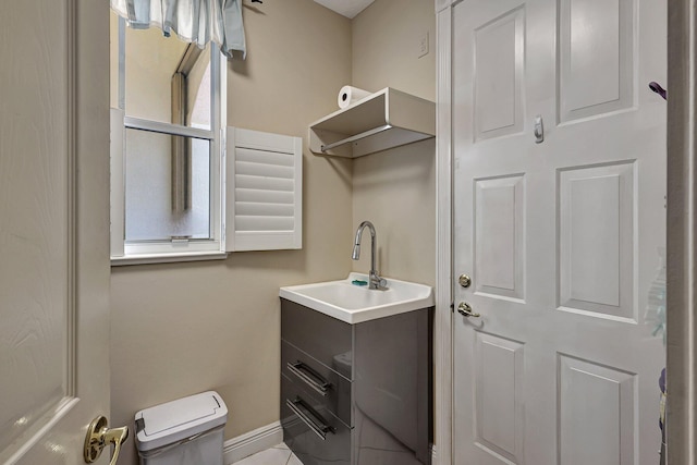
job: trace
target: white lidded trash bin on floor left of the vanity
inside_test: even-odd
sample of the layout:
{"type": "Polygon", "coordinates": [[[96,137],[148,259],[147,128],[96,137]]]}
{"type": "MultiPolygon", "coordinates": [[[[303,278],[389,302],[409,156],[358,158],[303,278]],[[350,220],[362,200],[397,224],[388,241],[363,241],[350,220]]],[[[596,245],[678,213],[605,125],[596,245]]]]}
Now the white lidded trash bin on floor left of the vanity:
{"type": "Polygon", "coordinates": [[[228,407],[215,391],[201,392],[135,414],[143,465],[222,465],[228,407]]]}

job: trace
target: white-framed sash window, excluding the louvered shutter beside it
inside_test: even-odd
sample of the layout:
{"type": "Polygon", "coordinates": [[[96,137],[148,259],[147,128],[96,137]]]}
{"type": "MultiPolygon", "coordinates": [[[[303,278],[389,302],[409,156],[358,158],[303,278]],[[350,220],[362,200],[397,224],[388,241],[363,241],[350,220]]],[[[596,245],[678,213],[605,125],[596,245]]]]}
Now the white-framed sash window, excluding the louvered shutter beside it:
{"type": "Polygon", "coordinates": [[[221,53],[111,14],[112,261],[224,257],[221,53]]]}

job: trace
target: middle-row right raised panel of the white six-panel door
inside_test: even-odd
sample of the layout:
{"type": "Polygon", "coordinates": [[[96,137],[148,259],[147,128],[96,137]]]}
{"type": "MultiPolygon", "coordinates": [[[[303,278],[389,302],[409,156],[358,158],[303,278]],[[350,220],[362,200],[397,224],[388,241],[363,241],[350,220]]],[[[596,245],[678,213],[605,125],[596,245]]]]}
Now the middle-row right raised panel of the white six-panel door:
{"type": "Polygon", "coordinates": [[[635,167],[626,162],[559,170],[561,309],[636,322],[635,167]]]}

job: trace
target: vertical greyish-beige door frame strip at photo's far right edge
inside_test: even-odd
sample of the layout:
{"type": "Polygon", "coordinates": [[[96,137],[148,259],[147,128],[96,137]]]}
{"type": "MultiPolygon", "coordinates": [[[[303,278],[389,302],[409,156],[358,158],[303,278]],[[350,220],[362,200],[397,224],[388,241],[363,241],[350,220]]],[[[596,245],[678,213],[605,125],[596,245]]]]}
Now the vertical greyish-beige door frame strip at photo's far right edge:
{"type": "Polygon", "coordinates": [[[668,2],[668,464],[697,461],[697,1],[668,2]]]}

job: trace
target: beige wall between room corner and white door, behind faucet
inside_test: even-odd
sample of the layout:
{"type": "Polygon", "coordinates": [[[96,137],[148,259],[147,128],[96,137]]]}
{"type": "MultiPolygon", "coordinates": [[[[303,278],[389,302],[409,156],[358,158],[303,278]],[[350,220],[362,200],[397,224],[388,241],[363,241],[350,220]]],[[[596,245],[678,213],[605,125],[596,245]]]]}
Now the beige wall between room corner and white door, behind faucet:
{"type": "MultiPolygon", "coordinates": [[[[377,0],[353,20],[352,36],[352,85],[371,91],[393,87],[436,100],[432,0],[377,0]],[[418,58],[425,33],[429,52],[418,58]]],[[[436,284],[435,140],[354,160],[353,228],[374,222],[377,268],[384,277],[436,284]]],[[[369,268],[368,253],[354,262],[355,271],[369,268]]]]}

